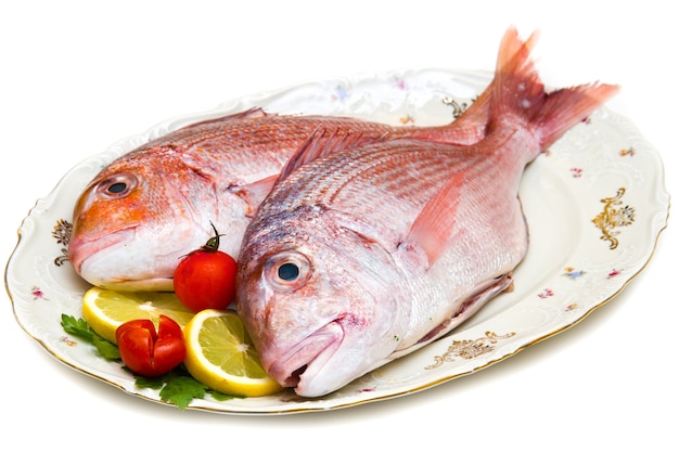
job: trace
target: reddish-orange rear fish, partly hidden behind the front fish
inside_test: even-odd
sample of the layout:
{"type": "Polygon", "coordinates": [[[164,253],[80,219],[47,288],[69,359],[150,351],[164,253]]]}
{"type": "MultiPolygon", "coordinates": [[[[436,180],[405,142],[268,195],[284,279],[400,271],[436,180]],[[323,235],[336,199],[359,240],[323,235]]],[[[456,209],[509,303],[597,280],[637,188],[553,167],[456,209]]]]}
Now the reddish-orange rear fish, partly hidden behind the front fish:
{"type": "Polygon", "coordinates": [[[243,233],[283,165],[319,127],[357,145],[399,137],[476,142],[488,93],[457,120],[393,127],[349,117],[279,116],[259,108],[194,124],[117,158],[80,194],[68,259],[89,283],[120,290],[171,290],[179,258],[213,235],[238,256],[243,233]]]}

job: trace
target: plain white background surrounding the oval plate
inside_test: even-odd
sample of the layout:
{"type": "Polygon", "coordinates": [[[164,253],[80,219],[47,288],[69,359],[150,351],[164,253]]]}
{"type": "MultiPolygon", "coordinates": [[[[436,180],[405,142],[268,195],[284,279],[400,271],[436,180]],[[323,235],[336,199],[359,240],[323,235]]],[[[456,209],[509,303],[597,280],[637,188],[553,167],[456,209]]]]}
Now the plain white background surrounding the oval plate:
{"type": "MultiPolygon", "coordinates": [[[[601,79],[623,86],[608,106],[657,147],[674,194],[679,34],[670,4],[4,2],[0,256],[9,259],[16,230],[38,198],[118,139],[309,79],[397,68],[492,69],[511,24],[523,36],[540,29],[536,55],[548,85],[601,79]]],[[[679,298],[671,220],[645,270],[575,327],[472,376],[326,413],[181,412],[128,396],[44,352],[18,326],[2,294],[0,441],[46,451],[361,444],[384,451],[676,451],[679,298]]]]}

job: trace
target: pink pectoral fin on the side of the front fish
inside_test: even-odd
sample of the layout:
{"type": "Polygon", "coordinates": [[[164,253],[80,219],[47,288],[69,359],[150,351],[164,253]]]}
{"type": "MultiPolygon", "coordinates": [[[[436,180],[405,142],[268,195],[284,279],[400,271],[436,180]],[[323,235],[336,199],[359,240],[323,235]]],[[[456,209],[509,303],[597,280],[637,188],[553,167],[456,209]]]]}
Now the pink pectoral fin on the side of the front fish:
{"type": "Polygon", "coordinates": [[[441,256],[456,225],[464,172],[457,172],[424,206],[410,227],[406,243],[419,245],[432,266],[441,256]]]}

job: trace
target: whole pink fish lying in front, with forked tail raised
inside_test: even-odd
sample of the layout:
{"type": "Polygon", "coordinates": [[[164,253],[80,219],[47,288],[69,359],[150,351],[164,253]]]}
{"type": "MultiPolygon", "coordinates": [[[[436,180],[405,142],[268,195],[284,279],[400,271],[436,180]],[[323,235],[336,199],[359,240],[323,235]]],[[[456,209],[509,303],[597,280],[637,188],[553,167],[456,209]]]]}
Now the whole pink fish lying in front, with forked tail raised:
{"type": "Polygon", "coordinates": [[[494,85],[475,144],[397,139],[331,152],[341,144],[312,138],[282,171],[246,230],[236,280],[239,314],[282,386],[334,391],[510,286],[528,248],[524,168],[617,87],[546,93],[514,28],[494,85]]]}

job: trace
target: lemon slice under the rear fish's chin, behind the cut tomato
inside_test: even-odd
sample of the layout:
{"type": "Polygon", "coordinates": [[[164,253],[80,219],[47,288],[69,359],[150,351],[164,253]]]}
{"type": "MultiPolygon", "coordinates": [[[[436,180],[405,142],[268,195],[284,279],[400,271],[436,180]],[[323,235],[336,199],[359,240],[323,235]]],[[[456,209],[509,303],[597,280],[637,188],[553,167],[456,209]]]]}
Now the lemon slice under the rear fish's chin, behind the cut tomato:
{"type": "Polygon", "coordinates": [[[116,343],[116,328],[136,319],[150,319],[157,327],[161,314],[179,326],[193,318],[172,292],[115,292],[92,287],[82,297],[82,318],[97,334],[116,343]]]}

